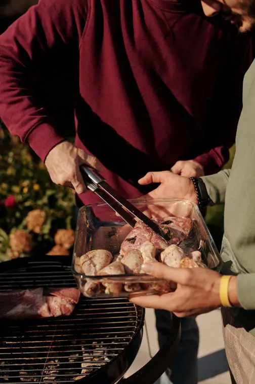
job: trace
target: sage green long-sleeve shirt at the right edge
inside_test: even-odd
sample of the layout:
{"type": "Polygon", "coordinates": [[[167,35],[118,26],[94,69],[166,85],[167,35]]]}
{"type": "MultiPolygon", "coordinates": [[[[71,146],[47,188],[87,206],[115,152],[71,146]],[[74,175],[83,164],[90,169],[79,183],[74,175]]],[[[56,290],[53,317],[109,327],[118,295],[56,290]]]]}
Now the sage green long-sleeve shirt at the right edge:
{"type": "Polygon", "coordinates": [[[246,310],[235,313],[255,336],[255,60],[244,78],[232,169],[202,179],[212,202],[225,203],[222,271],[238,274],[238,299],[246,310]]]}

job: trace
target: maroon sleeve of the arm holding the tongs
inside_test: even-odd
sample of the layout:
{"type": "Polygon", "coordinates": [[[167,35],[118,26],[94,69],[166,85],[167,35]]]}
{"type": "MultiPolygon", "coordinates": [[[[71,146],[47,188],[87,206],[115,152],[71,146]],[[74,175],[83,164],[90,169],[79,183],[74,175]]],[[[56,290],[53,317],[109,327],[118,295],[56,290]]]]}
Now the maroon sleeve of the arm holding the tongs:
{"type": "Polygon", "coordinates": [[[0,36],[0,117],[43,161],[63,137],[38,100],[34,79],[65,57],[78,61],[88,3],[40,0],[0,36]]]}

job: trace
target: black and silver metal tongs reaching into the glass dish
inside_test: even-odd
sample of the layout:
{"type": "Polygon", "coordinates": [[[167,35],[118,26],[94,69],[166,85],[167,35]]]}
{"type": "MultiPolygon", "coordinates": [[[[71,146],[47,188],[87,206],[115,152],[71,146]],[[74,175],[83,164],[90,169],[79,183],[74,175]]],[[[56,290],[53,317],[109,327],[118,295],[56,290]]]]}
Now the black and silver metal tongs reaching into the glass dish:
{"type": "Polygon", "coordinates": [[[87,165],[80,165],[80,172],[87,188],[101,197],[132,228],[136,225],[135,218],[137,218],[167,241],[167,235],[161,228],[139,211],[135,205],[119,195],[95,169],[87,165]]]}

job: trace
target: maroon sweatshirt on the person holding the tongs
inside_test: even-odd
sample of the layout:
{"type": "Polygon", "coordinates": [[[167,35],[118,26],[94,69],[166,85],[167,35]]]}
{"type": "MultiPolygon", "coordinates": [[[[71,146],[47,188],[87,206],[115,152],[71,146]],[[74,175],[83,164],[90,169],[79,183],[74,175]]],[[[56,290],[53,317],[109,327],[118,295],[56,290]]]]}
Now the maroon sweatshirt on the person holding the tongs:
{"type": "Polygon", "coordinates": [[[249,40],[197,0],[40,0],[0,37],[0,116],[45,160],[63,141],[48,108],[65,98],[60,77],[76,146],[137,197],[147,171],[195,159],[211,173],[228,160],[250,57],[249,40]]]}

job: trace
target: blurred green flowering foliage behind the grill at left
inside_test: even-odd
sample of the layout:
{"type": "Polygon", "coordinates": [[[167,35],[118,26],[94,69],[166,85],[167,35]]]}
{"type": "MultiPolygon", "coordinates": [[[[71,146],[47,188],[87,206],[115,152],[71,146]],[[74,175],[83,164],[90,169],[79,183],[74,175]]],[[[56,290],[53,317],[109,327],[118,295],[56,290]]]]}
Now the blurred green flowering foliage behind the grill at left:
{"type": "MultiPolygon", "coordinates": [[[[1,124],[1,123],[0,123],[1,124]]],[[[73,193],[55,185],[45,165],[28,146],[10,137],[0,125],[0,261],[7,260],[9,235],[16,229],[28,231],[27,214],[35,209],[46,213],[39,234],[31,233],[33,252],[47,253],[54,245],[57,229],[74,228],[75,201],[73,193]],[[6,200],[14,200],[15,204],[6,200]]]]}

